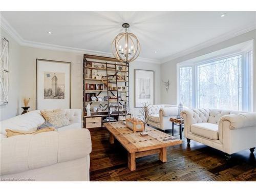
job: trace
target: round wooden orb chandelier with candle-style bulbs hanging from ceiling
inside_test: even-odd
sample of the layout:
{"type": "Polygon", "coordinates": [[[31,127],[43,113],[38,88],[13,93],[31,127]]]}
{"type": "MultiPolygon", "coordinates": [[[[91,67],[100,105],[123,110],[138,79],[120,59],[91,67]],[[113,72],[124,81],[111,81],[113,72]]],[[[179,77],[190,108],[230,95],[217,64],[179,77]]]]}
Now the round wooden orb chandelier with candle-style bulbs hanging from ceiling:
{"type": "Polygon", "coordinates": [[[124,23],[122,25],[125,28],[124,33],[119,33],[112,42],[112,53],[116,59],[121,62],[132,62],[140,54],[140,42],[138,38],[133,34],[127,32],[129,24],[124,23]]]}

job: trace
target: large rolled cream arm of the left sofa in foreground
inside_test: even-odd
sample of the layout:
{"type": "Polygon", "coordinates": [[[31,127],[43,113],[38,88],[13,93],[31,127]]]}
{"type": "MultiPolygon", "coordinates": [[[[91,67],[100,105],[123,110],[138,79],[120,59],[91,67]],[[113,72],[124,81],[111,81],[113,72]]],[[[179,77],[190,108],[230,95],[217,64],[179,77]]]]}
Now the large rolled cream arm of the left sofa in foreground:
{"type": "Polygon", "coordinates": [[[1,141],[0,174],[14,174],[87,156],[92,151],[87,129],[19,135],[1,141]]]}

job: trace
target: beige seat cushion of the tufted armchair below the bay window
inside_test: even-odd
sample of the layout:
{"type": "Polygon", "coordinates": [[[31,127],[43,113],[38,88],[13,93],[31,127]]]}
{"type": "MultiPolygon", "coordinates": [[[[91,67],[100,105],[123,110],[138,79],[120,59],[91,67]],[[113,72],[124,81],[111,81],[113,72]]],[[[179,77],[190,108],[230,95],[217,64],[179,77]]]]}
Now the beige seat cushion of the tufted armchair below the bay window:
{"type": "Polygon", "coordinates": [[[212,140],[219,140],[218,125],[212,123],[197,123],[191,125],[191,132],[193,134],[206,137],[212,140]]]}

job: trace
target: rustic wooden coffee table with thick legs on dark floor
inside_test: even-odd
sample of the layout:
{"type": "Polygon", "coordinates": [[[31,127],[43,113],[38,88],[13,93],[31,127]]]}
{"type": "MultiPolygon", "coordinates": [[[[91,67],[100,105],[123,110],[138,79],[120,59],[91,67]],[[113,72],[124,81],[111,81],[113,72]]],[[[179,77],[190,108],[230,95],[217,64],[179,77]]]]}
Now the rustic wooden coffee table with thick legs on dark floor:
{"type": "Polygon", "coordinates": [[[153,154],[159,154],[162,162],[167,161],[167,147],[181,144],[180,139],[158,131],[147,126],[148,136],[142,137],[140,132],[133,133],[122,122],[104,123],[110,132],[110,143],[114,143],[115,138],[123,145],[128,152],[128,167],[130,170],[136,169],[136,158],[153,154]]]}

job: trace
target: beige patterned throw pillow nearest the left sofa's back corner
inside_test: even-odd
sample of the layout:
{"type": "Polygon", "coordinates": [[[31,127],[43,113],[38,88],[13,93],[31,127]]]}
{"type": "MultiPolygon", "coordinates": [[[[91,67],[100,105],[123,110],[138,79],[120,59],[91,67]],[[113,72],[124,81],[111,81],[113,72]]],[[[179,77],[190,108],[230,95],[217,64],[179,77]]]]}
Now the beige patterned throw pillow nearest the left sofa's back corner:
{"type": "Polygon", "coordinates": [[[69,119],[66,117],[65,112],[61,109],[57,110],[41,110],[41,115],[46,121],[53,124],[53,126],[59,128],[62,126],[70,125],[69,119]]]}

